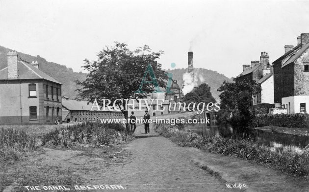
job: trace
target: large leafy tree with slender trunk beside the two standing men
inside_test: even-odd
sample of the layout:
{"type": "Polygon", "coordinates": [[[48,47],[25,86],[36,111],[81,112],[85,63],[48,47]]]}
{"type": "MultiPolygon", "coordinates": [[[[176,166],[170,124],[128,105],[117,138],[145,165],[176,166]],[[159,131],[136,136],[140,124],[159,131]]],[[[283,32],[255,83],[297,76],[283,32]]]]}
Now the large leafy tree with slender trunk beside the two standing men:
{"type": "MultiPolygon", "coordinates": [[[[152,84],[144,84],[144,93],[136,94],[146,67],[151,64],[158,85],[166,86],[167,75],[161,70],[161,65],[155,62],[163,51],[152,52],[147,45],[130,51],[127,44],[115,42],[114,47],[105,47],[99,52],[97,61],[90,62],[85,59],[83,68],[88,71],[84,81],[77,80],[81,85],[78,89],[79,96],[87,98],[89,102],[97,99],[103,105],[103,99],[145,98],[154,91],[152,84]]],[[[147,76],[150,78],[149,75],[147,76]]],[[[122,109],[125,119],[128,120],[128,106],[117,100],[117,105],[122,109]]],[[[126,124],[129,132],[129,124],[126,124]]]]}

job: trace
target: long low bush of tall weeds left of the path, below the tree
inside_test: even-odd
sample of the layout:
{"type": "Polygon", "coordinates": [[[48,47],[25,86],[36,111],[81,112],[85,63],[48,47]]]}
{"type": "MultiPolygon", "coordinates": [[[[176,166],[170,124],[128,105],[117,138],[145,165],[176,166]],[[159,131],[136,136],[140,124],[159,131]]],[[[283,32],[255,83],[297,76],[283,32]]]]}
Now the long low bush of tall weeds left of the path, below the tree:
{"type": "Polygon", "coordinates": [[[56,129],[43,135],[42,145],[61,145],[68,147],[74,144],[114,144],[126,142],[133,137],[128,135],[121,124],[101,124],[86,122],[56,129]]]}

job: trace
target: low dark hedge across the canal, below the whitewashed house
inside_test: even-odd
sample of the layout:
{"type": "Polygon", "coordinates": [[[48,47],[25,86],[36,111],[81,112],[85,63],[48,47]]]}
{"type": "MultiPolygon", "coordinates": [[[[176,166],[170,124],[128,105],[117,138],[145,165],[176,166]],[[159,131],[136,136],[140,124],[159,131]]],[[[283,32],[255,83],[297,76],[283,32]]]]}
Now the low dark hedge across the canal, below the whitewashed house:
{"type": "Polygon", "coordinates": [[[309,128],[309,114],[261,114],[257,115],[252,123],[252,126],[254,127],[263,127],[268,125],[279,127],[309,128]]]}

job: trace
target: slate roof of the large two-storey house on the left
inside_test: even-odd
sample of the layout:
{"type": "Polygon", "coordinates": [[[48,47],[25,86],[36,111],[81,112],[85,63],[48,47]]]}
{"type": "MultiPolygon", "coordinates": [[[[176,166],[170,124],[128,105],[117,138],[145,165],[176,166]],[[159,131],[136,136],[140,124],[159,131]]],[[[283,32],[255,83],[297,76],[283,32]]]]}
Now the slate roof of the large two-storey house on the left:
{"type": "MultiPolygon", "coordinates": [[[[52,81],[54,83],[61,84],[59,81],[55,80],[45,72],[37,69],[36,67],[28,64],[24,61],[17,62],[17,79],[45,79],[48,81],[52,81]]],[[[7,80],[7,67],[0,70],[0,80],[7,80]]],[[[61,84],[62,85],[62,84],[61,84]]]]}

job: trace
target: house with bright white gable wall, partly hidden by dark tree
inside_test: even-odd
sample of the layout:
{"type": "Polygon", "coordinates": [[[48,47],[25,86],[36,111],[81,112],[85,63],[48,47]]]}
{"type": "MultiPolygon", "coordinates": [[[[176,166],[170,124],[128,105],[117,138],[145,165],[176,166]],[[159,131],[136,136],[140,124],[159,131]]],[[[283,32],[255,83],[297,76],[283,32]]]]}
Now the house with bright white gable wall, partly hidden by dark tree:
{"type": "Polygon", "coordinates": [[[251,61],[251,65],[243,65],[243,72],[236,78],[255,80],[261,85],[261,91],[252,97],[254,105],[274,103],[273,67],[269,64],[267,52],[261,52],[260,61],[251,61]]]}

